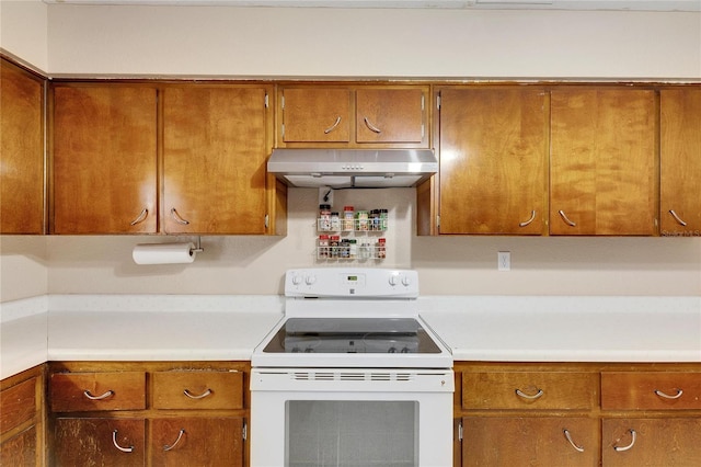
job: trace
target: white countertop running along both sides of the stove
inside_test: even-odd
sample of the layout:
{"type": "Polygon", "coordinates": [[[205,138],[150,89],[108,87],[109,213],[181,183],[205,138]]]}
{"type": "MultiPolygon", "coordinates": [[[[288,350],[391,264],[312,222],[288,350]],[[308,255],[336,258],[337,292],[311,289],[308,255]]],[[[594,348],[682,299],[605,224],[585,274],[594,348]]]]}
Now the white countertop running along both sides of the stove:
{"type": "MultiPolygon", "coordinates": [[[[701,362],[700,297],[422,297],[456,361],[701,362]]],[[[0,378],[47,361],[250,360],[279,296],[49,295],[2,304],[0,378]]]]}

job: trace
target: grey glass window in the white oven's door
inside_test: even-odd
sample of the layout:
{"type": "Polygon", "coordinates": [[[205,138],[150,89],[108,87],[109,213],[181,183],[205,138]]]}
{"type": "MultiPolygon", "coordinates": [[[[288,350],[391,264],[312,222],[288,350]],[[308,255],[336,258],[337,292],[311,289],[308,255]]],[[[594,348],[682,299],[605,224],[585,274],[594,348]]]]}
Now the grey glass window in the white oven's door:
{"type": "Polygon", "coordinates": [[[418,402],[288,400],[287,467],[417,467],[418,402]]]}

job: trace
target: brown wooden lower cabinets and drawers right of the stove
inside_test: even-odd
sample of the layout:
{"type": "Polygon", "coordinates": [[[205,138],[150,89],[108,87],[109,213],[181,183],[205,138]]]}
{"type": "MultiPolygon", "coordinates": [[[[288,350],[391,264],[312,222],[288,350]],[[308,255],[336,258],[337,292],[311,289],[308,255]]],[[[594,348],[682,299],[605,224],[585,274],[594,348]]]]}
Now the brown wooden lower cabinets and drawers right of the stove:
{"type": "Polygon", "coordinates": [[[459,466],[701,465],[701,364],[456,364],[459,466]]]}

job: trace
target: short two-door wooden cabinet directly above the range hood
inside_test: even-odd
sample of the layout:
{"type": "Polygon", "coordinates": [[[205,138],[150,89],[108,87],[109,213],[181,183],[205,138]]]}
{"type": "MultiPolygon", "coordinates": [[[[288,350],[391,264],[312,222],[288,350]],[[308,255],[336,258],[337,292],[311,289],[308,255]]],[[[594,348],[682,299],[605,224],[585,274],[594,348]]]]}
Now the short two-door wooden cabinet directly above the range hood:
{"type": "Polygon", "coordinates": [[[277,147],[427,148],[428,86],[279,90],[277,147]]]}

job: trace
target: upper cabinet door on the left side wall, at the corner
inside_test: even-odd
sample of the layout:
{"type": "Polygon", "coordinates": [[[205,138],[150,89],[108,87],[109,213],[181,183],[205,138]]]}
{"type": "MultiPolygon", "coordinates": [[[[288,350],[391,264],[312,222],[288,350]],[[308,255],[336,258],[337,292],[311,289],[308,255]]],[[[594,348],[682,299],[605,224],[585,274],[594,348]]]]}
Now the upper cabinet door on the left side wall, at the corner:
{"type": "Polygon", "coordinates": [[[0,234],[43,234],[44,83],[0,61],[0,234]]]}

